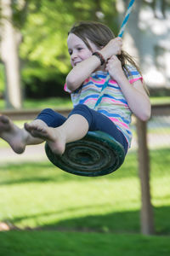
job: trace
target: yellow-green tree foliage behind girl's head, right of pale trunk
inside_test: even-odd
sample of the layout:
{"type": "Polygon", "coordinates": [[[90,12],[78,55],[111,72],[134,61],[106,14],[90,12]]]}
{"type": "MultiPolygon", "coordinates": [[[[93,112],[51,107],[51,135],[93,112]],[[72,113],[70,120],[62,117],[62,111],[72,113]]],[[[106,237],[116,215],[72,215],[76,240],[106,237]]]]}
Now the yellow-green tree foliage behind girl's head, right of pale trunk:
{"type": "MultiPolygon", "coordinates": [[[[42,0],[40,8],[28,15],[22,30],[24,40],[20,55],[28,65],[31,64],[32,73],[35,72],[33,63],[44,69],[42,76],[48,76],[48,73],[51,76],[49,68],[68,73],[70,61],[66,38],[73,23],[77,20],[101,20],[106,24],[109,22],[108,25],[115,30],[115,3],[114,0],[42,0]]],[[[36,3],[32,3],[30,8],[35,9],[36,3]]]]}

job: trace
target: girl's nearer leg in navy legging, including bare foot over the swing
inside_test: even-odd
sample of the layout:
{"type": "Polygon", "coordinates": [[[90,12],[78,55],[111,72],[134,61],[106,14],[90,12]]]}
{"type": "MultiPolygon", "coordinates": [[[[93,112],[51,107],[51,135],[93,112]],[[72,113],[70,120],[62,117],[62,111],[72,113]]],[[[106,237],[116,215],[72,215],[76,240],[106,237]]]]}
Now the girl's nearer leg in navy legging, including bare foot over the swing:
{"type": "Polygon", "coordinates": [[[122,132],[116,128],[110,119],[86,105],[80,104],[74,108],[63,125],[57,128],[48,126],[27,125],[27,131],[32,136],[40,137],[48,142],[54,154],[63,154],[65,143],[75,142],[89,131],[105,131],[122,143],[127,151],[127,142],[122,132]]]}

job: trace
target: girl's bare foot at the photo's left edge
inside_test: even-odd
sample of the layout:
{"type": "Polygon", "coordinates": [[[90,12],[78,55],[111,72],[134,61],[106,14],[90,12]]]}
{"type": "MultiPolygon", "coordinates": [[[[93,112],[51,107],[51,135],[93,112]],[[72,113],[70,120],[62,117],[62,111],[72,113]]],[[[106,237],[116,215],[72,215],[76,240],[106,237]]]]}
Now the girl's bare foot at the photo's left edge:
{"type": "Polygon", "coordinates": [[[0,116],[0,137],[5,140],[15,153],[21,154],[26,148],[26,133],[8,119],[7,116],[0,116]]]}

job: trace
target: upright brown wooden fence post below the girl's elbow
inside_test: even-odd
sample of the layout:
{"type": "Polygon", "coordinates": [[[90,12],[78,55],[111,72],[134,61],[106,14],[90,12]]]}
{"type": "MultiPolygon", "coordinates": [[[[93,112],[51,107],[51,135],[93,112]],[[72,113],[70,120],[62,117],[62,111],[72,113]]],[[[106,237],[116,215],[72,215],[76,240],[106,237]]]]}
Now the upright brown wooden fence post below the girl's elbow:
{"type": "Polygon", "coordinates": [[[141,232],[144,235],[154,234],[153,209],[150,202],[150,157],[147,146],[147,123],[137,119],[139,177],[141,185],[141,232]]]}

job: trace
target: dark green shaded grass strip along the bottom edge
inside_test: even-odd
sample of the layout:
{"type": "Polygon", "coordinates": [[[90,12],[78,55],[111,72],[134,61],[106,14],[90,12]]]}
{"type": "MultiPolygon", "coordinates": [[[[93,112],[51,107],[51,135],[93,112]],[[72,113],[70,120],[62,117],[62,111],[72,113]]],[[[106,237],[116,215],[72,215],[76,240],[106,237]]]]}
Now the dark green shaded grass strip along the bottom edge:
{"type": "Polygon", "coordinates": [[[2,256],[169,256],[169,237],[56,231],[0,233],[2,256]]]}

